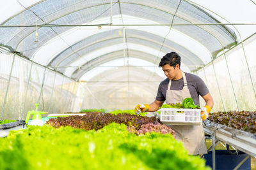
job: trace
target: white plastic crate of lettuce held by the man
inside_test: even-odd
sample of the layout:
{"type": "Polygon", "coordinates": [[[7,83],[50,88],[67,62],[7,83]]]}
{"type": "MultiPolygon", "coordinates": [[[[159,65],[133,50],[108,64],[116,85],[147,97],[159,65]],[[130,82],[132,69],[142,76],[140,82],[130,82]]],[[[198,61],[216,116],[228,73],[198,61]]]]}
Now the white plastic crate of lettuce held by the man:
{"type": "Polygon", "coordinates": [[[166,125],[200,125],[200,109],[161,108],[160,120],[166,125]]]}

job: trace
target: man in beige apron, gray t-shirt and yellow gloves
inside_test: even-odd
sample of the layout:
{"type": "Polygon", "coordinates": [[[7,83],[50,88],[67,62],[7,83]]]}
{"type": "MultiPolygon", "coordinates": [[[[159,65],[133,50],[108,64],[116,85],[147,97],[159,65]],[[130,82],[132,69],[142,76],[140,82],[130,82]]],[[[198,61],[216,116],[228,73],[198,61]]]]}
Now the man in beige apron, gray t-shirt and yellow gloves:
{"type": "MultiPolygon", "coordinates": [[[[182,103],[186,97],[193,98],[194,103],[200,105],[200,95],[206,103],[201,109],[201,118],[205,120],[214,102],[204,81],[195,74],[180,71],[180,56],[175,52],[164,55],[159,63],[159,67],[162,67],[167,78],[160,83],[156,100],[151,104],[138,104],[134,111],[157,111],[164,101],[167,104],[182,103]]],[[[202,124],[171,125],[171,127],[176,132],[175,138],[182,141],[189,155],[207,153],[202,124]]]]}

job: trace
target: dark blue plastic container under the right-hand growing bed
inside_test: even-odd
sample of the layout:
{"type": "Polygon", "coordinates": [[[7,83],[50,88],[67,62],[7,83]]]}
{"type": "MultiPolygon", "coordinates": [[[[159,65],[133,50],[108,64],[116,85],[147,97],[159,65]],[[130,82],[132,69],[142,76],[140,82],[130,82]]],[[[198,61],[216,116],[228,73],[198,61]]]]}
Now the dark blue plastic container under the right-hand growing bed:
{"type": "MultiPolygon", "coordinates": [[[[239,152],[238,155],[230,155],[227,150],[216,150],[215,151],[215,162],[216,169],[218,170],[231,170],[234,169],[245,157],[247,156],[244,152],[239,152]]],[[[204,155],[206,160],[206,165],[212,167],[212,151],[204,155]]],[[[249,157],[239,170],[249,170],[251,169],[251,157],[249,157]]]]}

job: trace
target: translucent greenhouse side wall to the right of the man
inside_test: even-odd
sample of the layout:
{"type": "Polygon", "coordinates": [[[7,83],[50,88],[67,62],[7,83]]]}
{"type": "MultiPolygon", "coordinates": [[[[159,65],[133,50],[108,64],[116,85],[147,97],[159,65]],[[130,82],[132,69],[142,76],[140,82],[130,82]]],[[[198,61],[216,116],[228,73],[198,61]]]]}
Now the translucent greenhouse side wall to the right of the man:
{"type": "MultiPolygon", "coordinates": [[[[246,39],[244,50],[240,43],[198,71],[198,76],[207,83],[214,99],[213,111],[255,110],[255,39],[256,35],[246,39]]],[[[203,100],[200,102],[203,103],[203,100]]]]}

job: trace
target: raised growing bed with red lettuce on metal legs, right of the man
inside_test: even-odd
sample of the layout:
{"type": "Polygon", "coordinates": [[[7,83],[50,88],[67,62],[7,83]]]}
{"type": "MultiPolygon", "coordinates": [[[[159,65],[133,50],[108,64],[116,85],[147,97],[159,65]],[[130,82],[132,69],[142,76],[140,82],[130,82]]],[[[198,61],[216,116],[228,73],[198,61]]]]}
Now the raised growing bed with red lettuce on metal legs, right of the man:
{"type": "MultiPolygon", "coordinates": [[[[228,111],[211,113],[209,118],[204,121],[204,132],[212,136],[212,148],[216,142],[221,141],[230,146],[241,150],[248,155],[236,165],[238,169],[243,162],[251,159],[255,162],[256,157],[256,117],[255,111],[228,111]]],[[[212,167],[218,164],[215,160],[215,151],[212,150],[212,167]]],[[[253,166],[252,164],[252,167],[253,166]]]]}

